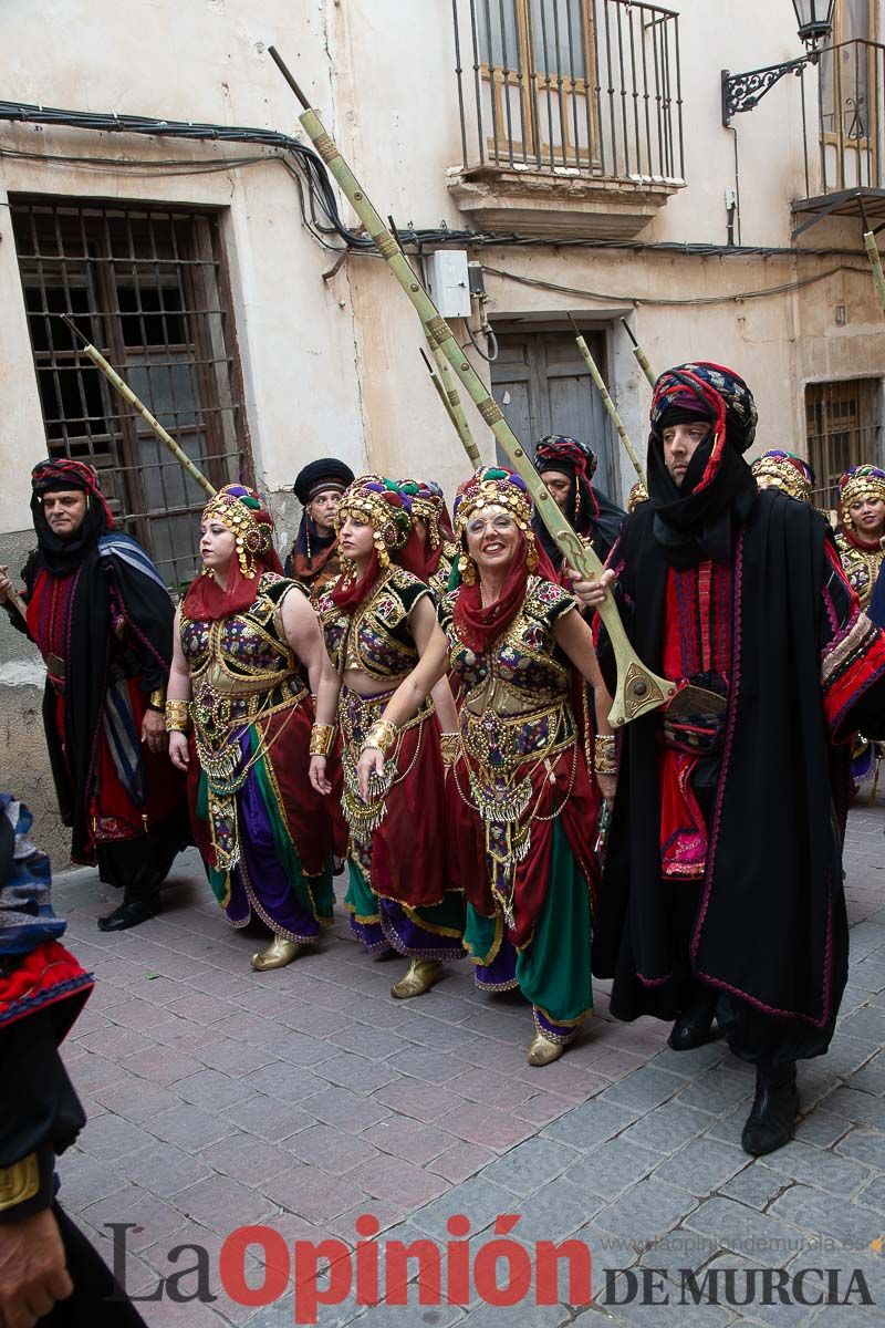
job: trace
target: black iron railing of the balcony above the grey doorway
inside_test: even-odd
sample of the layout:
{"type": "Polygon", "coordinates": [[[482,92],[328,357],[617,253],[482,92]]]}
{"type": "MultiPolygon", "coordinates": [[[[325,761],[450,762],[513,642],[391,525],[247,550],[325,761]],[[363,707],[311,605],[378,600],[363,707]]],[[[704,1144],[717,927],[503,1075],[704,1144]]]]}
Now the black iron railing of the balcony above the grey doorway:
{"type": "Polygon", "coordinates": [[[452,0],[463,171],[685,175],[679,19],[633,0],[452,0]]]}

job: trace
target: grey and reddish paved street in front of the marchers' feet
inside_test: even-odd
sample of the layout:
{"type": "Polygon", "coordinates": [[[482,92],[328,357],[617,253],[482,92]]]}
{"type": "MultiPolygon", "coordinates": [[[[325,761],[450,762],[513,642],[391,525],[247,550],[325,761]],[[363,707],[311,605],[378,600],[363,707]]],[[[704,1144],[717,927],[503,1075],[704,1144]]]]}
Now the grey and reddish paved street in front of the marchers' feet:
{"type": "MultiPolygon", "coordinates": [[[[452,1239],[447,1218],[463,1214],[474,1258],[499,1214],[519,1214],[511,1239],[532,1259],[537,1240],[586,1242],[600,1295],[590,1308],[536,1305],[532,1291],[516,1308],[479,1299],[429,1308],[417,1305],[413,1287],[409,1308],[366,1309],[352,1293],[320,1309],[328,1328],[356,1319],[361,1328],[464,1319],[472,1328],[882,1324],[884,827],[881,806],[852,814],[852,971],[841,1024],[831,1054],[801,1069],[808,1114],[796,1141],[766,1161],[740,1150],[752,1072],[722,1041],[675,1054],[665,1025],[616,1024],[597,992],[598,1017],[580,1041],[555,1065],[531,1069],[528,1007],[478,993],[466,964],[433,993],[398,1004],[387,991],[402,961],[364,956],[338,918],[321,950],[256,975],[248,960],[259,943],[228,928],[194,854],[179,859],[166,911],[115,936],[96,928],[110,892],[94,875],[58,876],[68,940],[97,977],[66,1050],[89,1123],[60,1162],[61,1197],[109,1260],[105,1224],[134,1226],[134,1293],[192,1267],[192,1251],[170,1259],[176,1246],[208,1251],[216,1299],[146,1300],[139,1308],[151,1328],[292,1324],[291,1293],[245,1308],[222,1291],[224,1236],[267,1223],[289,1250],[295,1240],[337,1239],[340,1252],[354,1246],[354,1222],[366,1212],[385,1239],[441,1244],[452,1239]],[[766,1297],[762,1270],[782,1267],[833,1270],[843,1297],[858,1268],[878,1304],[862,1308],[856,1293],[841,1307],[785,1304],[776,1291],[766,1297]],[[606,1292],[605,1270],[624,1268],[634,1280],[621,1275],[606,1292]],[[686,1268],[701,1288],[703,1274],[718,1271],[722,1303],[686,1297],[686,1268]],[[734,1270],[742,1271],[730,1297],[748,1300],[744,1308],[724,1303],[734,1270]],[[743,1289],[743,1270],[756,1270],[755,1293],[743,1289]],[[632,1288],[632,1301],[614,1303],[632,1288]],[[647,1303],[667,1292],[669,1305],[647,1303]]],[[[333,1278],[336,1268],[348,1276],[350,1259],[338,1259],[333,1278]]],[[[251,1280],[260,1286],[263,1276],[252,1264],[251,1280]]],[[[167,1292],[195,1287],[190,1275],[167,1292]]],[[[817,1295],[819,1283],[805,1286],[807,1299],[817,1295]]]]}

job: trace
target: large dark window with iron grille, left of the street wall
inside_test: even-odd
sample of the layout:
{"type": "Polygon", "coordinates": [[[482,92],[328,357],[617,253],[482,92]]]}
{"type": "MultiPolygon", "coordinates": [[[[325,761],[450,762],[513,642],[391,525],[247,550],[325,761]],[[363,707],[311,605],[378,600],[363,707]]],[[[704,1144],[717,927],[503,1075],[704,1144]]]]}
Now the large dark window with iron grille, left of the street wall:
{"type": "Polygon", "coordinates": [[[251,482],[218,219],[21,195],[11,212],[49,454],[98,470],[119,526],[178,587],[196,571],[206,495],[57,315],[73,316],[216,487],[251,482]]]}

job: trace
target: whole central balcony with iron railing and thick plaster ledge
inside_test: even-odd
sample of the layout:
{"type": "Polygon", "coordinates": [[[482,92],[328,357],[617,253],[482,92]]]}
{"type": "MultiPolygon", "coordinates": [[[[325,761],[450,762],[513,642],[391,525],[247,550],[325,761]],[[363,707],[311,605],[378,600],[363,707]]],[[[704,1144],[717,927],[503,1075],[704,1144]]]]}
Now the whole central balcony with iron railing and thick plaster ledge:
{"type": "Polygon", "coordinates": [[[632,0],[452,0],[476,230],[632,239],[685,185],[679,19],[632,0]]]}

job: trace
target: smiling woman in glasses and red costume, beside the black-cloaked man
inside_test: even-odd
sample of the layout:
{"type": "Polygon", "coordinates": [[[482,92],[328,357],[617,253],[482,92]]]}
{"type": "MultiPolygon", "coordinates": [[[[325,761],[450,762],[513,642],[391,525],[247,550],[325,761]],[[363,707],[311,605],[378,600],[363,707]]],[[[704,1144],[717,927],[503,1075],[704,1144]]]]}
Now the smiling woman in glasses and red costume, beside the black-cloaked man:
{"type": "Polygon", "coordinates": [[[451,839],[467,898],[464,947],[486,991],[531,1001],[529,1065],[563,1054],[593,1004],[590,895],[598,880],[600,797],[572,697],[589,683],[596,773],[614,795],[610,697],[577,604],[537,548],[519,475],[487,466],[455,505],[462,584],[442,602],[442,629],[385,706],[360,761],[364,789],[383,778],[383,740],[411,721],[451,669],[462,706],[450,778],[459,798],[451,839]]]}

